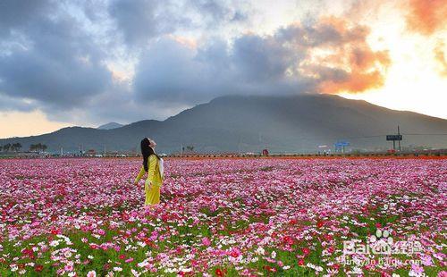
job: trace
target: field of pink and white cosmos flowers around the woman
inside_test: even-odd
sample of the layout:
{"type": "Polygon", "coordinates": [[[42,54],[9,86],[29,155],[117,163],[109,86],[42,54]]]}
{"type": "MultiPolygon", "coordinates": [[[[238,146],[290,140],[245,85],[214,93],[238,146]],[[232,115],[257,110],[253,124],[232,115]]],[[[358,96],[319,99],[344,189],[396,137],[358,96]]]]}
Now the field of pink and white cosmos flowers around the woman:
{"type": "Polygon", "coordinates": [[[446,159],[0,160],[0,276],[447,276],[446,159]]]}

